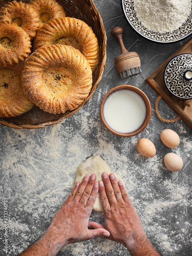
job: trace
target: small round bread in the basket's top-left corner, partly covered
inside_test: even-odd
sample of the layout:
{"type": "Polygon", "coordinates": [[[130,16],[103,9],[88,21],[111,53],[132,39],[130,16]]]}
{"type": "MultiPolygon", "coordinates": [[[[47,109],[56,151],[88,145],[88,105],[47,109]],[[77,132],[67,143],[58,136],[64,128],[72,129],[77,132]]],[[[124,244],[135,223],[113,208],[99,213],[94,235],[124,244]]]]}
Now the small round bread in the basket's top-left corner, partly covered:
{"type": "Polygon", "coordinates": [[[40,26],[40,20],[37,12],[27,3],[9,2],[1,8],[0,22],[14,22],[22,28],[31,39],[36,36],[40,26]]]}

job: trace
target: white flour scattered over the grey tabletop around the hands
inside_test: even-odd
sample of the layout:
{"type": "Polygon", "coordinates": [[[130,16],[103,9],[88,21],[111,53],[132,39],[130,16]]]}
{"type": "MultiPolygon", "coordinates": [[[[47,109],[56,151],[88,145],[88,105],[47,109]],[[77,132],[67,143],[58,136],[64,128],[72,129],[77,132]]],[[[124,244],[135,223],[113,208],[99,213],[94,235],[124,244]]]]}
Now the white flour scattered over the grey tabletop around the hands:
{"type": "MultiPolygon", "coordinates": [[[[188,220],[192,205],[191,175],[186,170],[167,171],[162,157],[167,148],[161,145],[160,135],[153,137],[159,154],[145,158],[137,152],[136,143],[141,137],[152,139],[150,127],[135,137],[124,138],[103,127],[99,110],[88,113],[81,109],[70,119],[73,125],[67,119],[32,131],[0,127],[0,152],[4,154],[0,193],[8,198],[9,207],[7,255],[18,255],[47,229],[74,185],[78,165],[92,155],[100,155],[123,178],[143,228],[155,247],[163,255],[180,253],[182,247],[191,243],[191,220],[188,220]]],[[[185,141],[190,143],[184,133],[178,150],[183,156],[191,150],[190,146],[184,146],[185,141]]],[[[186,157],[184,162],[186,165],[190,158],[186,157]]],[[[92,212],[90,220],[103,224],[104,217],[100,212],[92,212]]],[[[0,225],[4,227],[3,219],[0,225]]],[[[96,238],[67,245],[59,255],[130,254],[123,245],[96,238]]]]}

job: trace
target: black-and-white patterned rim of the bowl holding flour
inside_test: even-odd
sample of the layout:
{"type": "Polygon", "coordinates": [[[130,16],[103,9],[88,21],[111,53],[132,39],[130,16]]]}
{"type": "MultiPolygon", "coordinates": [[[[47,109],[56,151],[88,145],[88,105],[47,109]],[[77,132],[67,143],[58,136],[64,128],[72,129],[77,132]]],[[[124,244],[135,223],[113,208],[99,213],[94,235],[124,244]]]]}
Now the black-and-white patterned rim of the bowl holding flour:
{"type": "MultiPolygon", "coordinates": [[[[139,33],[141,36],[146,39],[160,42],[160,43],[168,43],[168,42],[176,42],[185,39],[186,37],[192,34],[192,7],[189,13],[189,16],[185,23],[182,24],[180,28],[174,30],[173,32],[166,33],[158,33],[151,30],[146,29],[141,25],[139,19],[136,16],[134,0],[121,0],[122,1],[122,10],[123,14],[127,20],[127,22],[131,25],[131,27],[139,33]]],[[[144,2],[143,2],[144,4],[144,2]]]]}

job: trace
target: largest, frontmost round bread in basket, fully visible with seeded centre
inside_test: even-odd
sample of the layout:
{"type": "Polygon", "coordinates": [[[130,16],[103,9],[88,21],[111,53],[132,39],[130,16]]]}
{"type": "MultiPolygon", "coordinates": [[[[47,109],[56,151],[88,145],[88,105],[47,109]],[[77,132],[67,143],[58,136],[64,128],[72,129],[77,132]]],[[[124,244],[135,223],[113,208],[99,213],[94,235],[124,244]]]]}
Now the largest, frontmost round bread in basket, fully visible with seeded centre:
{"type": "Polygon", "coordinates": [[[65,113],[76,109],[88,97],[92,70],[87,59],[73,47],[45,46],[26,60],[22,86],[40,109],[65,113]]]}

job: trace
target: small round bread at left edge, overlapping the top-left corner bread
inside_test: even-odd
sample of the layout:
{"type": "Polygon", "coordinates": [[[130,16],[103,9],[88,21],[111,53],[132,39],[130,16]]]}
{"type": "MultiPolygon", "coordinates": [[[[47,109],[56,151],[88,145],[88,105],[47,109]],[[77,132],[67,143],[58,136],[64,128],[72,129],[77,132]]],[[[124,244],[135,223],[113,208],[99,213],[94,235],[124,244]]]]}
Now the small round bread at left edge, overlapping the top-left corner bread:
{"type": "Polygon", "coordinates": [[[28,34],[15,23],[0,23],[0,66],[7,67],[18,63],[31,53],[28,34]]]}

